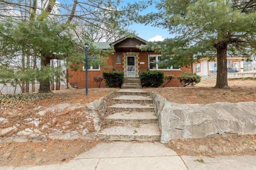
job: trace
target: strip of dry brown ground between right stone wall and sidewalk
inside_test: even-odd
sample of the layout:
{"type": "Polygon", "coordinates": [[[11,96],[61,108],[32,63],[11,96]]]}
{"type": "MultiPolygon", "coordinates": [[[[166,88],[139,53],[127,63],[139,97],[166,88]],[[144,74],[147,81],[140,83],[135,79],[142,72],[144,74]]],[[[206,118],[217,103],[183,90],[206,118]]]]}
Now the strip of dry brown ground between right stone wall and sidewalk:
{"type": "Polygon", "coordinates": [[[190,156],[256,156],[256,135],[207,137],[204,139],[173,139],[166,147],[179,155],[190,156]]]}

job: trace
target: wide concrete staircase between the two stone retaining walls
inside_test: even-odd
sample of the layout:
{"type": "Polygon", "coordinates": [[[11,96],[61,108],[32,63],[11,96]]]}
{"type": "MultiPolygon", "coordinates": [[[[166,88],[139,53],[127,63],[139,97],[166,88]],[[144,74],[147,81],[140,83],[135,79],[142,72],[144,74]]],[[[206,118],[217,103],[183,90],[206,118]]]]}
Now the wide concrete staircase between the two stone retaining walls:
{"type": "Polygon", "coordinates": [[[107,110],[111,110],[112,114],[107,115],[104,120],[119,125],[102,129],[98,133],[98,140],[160,141],[161,132],[152,98],[147,92],[138,91],[120,90],[111,99],[112,105],[108,106],[107,110]]]}

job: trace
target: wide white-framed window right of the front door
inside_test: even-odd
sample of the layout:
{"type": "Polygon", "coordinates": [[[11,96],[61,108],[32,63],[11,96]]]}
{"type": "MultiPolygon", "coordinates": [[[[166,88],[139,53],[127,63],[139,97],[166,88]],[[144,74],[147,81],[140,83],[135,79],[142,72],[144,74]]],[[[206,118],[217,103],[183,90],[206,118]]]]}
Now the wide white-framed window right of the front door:
{"type": "Polygon", "coordinates": [[[150,70],[180,70],[179,66],[158,66],[157,62],[163,61],[161,55],[149,55],[148,60],[150,70]]]}

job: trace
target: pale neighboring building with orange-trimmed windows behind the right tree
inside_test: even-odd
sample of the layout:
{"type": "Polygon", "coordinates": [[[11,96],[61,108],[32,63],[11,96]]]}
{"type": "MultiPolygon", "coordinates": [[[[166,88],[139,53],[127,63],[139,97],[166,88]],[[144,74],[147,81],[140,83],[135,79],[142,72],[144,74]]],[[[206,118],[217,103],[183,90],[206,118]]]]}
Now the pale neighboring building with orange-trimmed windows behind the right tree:
{"type": "MultiPolygon", "coordinates": [[[[244,57],[227,57],[228,72],[243,72],[244,71],[244,57]]],[[[193,64],[194,73],[201,76],[203,79],[217,74],[217,59],[209,61],[208,59],[201,59],[199,62],[193,64]]]]}

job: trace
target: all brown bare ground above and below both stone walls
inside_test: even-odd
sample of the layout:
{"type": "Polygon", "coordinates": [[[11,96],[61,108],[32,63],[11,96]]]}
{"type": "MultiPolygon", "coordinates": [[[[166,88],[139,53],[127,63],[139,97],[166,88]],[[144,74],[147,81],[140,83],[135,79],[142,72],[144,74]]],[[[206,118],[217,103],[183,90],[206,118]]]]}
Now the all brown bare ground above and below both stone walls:
{"type": "MultiPolygon", "coordinates": [[[[144,88],[154,91],[169,102],[180,104],[208,104],[214,102],[256,102],[256,80],[228,80],[230,89],[215,89],[216,80],[202,80],[195,87],[144,88]]],[[[60,103],[86,104],[106,96],[118,88],[54,91],[45,98],[4,99],[0,98],[0,107],[6,109],[19,107],[24,111],[35,106],[52,106],[60,103]]],[[[1,96],[0,96],[1,97],[1,96]]],[[[0,113],[0,117],[1,117],[0,113]]],[[[90,150],[98,142],[87,140],[48,140],[47,142],[0,143],[0,166],[47,165],[70,161],[74,157],[90,150]]],[[[166,147],[180,155],[192,156],[232,156],[256,155],[256,135],[230,137],[209,137],[204,139],[174,139],[166,147]]]]}

